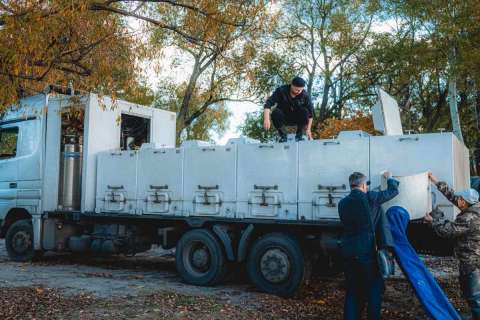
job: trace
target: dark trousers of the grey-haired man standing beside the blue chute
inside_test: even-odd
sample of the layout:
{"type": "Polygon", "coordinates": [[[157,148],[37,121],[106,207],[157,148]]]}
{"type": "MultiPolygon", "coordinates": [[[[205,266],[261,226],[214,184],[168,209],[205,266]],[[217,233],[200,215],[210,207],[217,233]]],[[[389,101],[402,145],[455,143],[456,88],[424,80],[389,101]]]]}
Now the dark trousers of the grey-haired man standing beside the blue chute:
{"type": "Polygon", "coordinates": [[[351,257],[344,265],[346,292],[344,320],[360,320],[367,307],[367,319],[379,320],[385,284],[375,257],[351,257]]]}

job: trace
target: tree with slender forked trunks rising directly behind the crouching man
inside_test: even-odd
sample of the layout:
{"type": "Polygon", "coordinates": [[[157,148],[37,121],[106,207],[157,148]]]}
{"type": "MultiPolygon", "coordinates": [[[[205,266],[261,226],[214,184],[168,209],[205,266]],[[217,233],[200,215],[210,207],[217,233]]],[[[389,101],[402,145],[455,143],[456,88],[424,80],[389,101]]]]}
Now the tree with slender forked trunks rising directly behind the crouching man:
{"type": "Polygon", "coordinates": [[[353,67],[356,53],[371,34],[378,11],[376,1],[286,0],[280,6],[282,15],[269,46],[274,58],[265,59],[259,69],[263,66],[264,74],[275,77],[270,73],[273,61],[288,66],[284,70],[306,75],[306,90],[316,105],[317,121],[341,117],[357,94],[353,67]]]}

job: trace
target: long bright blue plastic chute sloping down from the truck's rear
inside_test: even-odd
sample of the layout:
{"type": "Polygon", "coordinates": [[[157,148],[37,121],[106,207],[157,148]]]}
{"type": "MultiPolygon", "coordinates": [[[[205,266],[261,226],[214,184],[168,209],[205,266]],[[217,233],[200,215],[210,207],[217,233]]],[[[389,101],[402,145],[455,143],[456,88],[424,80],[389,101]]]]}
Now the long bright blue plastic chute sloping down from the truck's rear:
{"type": "Polygon", "coordinates": [[[392,230],[397,262],[415,290],[427,315],[435,320],[461,319],[435,278],[408,242],[406,231],[410,217],[407,210],[402,207],[391,207],[387,211],[387,217],[392,230]]]}

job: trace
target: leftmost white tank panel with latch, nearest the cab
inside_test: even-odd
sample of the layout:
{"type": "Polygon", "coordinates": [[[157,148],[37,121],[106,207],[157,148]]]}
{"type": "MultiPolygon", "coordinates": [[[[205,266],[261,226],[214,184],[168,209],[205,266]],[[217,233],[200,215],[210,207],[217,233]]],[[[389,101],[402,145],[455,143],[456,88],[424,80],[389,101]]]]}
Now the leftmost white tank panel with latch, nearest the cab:
{"type": "Polygon", "coordinates": [[[96,211],[136,213],[137,159],[134,151],[98,155],[96,211]]]}

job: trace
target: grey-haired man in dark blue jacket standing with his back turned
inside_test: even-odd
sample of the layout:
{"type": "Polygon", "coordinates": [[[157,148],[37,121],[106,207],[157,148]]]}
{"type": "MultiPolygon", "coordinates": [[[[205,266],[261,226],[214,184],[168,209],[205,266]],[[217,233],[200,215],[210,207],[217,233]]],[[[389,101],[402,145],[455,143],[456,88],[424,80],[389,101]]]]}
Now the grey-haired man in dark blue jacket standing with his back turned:
{"type": "Polygon", "coordinates": [[[351,192],[338,204],[344,226],[345,320],[360,319],[365,304],[368,304],[368,319],[380,319],[384,281],[378,271],[376,248],[393,247],[381,205],[398,194],[399,184],[389,172],[383,175],[387,178],[387,190],[368,191],[367,177],[360,172],[352,173],[349,177],[351,192]]]}

